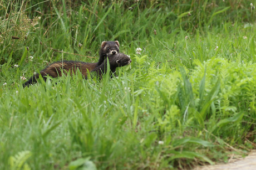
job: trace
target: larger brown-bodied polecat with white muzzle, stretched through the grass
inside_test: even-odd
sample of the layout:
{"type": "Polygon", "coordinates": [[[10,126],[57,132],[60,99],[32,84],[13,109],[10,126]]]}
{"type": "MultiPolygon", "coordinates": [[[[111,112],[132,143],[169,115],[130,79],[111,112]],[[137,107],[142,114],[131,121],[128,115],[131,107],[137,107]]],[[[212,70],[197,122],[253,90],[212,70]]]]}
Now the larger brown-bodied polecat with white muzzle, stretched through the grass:
{"type": "Polygon", "coordinates": [[[43,79],[46,80],[46,76],[49,75],[52,78],[56,78],[58,76],[62,76],[62,73],[67,74],[68,71],[70,73],[76,73],[76,69],[79,69],[80,72],[86,76],[87,70],[92,71],[97,66],[100,66],[107,56],[114,55],[119,53],[119,42],[102,42],[100,48],[100,59],[97,63],[85,63],[81,61],[57,61],[48,65],[45,69],[33,75],[26,83],[23,84],[23,87],[34,84],[37,82],[39,75],[41,74],[43,79]]]}

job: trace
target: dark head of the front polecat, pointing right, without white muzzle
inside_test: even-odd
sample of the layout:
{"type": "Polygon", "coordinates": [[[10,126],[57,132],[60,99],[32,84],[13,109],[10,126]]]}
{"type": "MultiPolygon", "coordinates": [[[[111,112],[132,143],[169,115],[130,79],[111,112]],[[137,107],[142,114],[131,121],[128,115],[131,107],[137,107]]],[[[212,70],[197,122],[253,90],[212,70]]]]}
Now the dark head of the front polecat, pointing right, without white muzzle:
{"type": "Polygon", "coordinates": [[[112,66],[125,66],[131,64],[131,59],[128,55],[118,53],[109,56],[109,63],[112,66]]]}

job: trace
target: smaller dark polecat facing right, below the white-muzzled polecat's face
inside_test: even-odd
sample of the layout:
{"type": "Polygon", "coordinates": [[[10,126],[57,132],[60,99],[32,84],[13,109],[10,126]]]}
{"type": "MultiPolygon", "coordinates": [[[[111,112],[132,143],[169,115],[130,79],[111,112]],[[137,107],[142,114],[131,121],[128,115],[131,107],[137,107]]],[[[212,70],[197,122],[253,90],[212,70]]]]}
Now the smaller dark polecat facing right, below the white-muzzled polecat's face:
{"type": "MultiPolygon", "coordinates": [[[[110,74],[115,73],[117,67],[125,66],[131,64],[131,59],[128,55],[118,53],[112,56],[107,57],[109,59],[109,65],[110,65],[110,74]]],[[[96,75],[99,76],[99,78],[102,78],[102,75],[107,72],[107,59],[104,60],[104,62],[94,68],[91,73],[96,73],[96,75]]],[[[87,76],[85,77],[87,79],[87,76]]]]}

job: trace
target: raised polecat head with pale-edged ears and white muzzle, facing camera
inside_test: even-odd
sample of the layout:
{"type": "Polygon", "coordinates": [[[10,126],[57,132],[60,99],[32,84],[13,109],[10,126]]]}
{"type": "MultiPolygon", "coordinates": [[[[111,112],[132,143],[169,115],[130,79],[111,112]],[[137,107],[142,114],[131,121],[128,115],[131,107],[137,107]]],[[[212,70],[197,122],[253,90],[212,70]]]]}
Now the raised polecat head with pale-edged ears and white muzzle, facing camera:
{"type": "Polygon", "coordinates": [[[113,55],[119,53],[119,42],[102,42],[101,55],[113,55]]]}

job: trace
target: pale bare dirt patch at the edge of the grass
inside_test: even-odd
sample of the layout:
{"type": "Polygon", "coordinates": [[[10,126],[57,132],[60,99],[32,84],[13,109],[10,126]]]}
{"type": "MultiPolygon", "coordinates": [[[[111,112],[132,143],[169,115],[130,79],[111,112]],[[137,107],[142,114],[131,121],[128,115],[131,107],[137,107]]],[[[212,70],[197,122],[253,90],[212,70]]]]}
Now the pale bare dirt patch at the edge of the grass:
{"type": "Polygon", "coordinates": [[[211,166],[196,167],[194,170],[256,170],[256,150],[253,150],[247,157],[226,164],[215,164],[211,166]]]}

